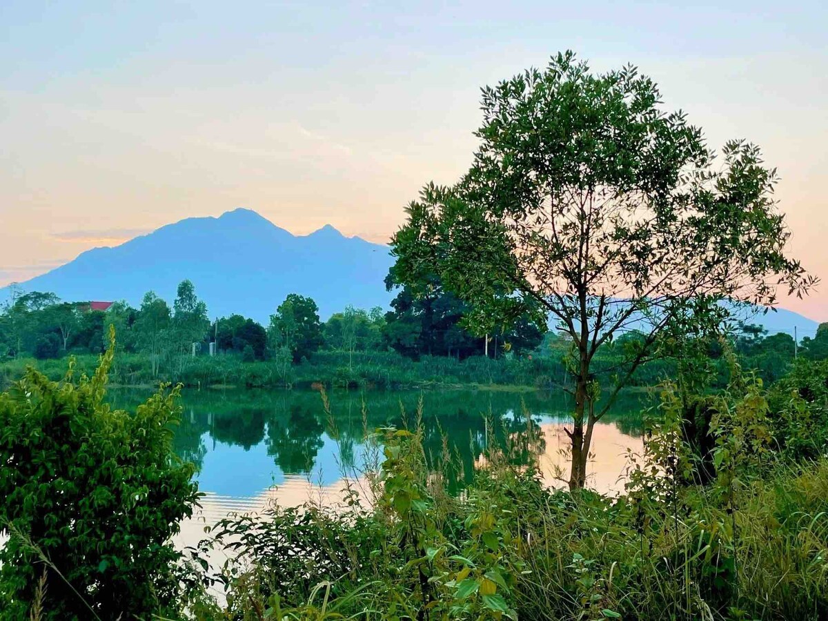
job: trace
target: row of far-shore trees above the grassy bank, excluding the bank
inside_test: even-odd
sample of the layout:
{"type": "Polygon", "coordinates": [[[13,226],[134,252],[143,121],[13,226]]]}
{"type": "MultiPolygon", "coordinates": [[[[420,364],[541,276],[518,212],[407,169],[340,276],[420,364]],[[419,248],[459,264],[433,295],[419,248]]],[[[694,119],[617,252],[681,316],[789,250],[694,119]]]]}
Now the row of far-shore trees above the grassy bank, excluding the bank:
{"type": "MultiPolygon", "coordinates": [[[[217,353],[235,355],[243,362],[300,363],[320,351],[349,354],[349,366],[359,352],[396,351],[409,359],[433,355],[462,360],[487,350],[484,338],[463,327],[464,313],[464,306],[449,294],[415,300],[403,288],[388,312],[349,306],[323,322],[315,301],[291,294],[265,326],[243,315],[210,322],[207,307],[190,281],[181,282],[172,306],[152,291],[139,308],[117,301],[107,310],[34,291],[12,297],[2,310],[0,358],[101,354],[106,327],[114,325],[119,350],[145,356],[153,378],[183,364],[183,356],[208,354],[212,342],[217,353]]],[[[537,327],[518,318],[511,330],[491,335],[491,357],[527,353],[541,339],[537,327]]]]}

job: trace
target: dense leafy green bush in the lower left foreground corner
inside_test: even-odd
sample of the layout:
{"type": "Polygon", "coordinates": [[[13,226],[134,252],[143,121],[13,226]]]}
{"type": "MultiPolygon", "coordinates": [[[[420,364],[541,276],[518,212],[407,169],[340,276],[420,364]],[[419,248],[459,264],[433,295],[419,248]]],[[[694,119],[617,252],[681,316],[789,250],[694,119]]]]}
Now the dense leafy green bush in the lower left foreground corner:
{"type": "Polygon", "coordinates": [[[178,389],[136,412],[105,401],[113,345],[91,377],[52,382],[33,368],[0,395],[2,619],[133,619],[181,612],[171,544],[197,503],[194,468],[171,450],[178,389]],[[41,602],[43,604],[43,602],[41,602]]]}

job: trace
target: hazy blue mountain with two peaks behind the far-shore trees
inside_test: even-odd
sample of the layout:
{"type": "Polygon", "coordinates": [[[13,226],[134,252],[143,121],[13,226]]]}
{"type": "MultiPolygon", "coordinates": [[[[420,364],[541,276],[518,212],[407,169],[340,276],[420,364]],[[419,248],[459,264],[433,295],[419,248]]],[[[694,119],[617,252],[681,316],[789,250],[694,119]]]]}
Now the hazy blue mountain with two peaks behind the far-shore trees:
{"type": "MultiPolygon", "coordinates": [[[[141,303],[147,291],[171,302],[189,278],[211,317],[240,313],[267,322],[289,293],[310,296],[320,317],[353,305],[388,306],[383,279],[388,247],[347,238],[326,225],[293,235],[250,209],[219,218],[190,218],[114,248],[94,248],[74,261],[21,283],[65,301],[141,303]]],[[[8,289],[0,290],[0,301],[8,289]]]]}

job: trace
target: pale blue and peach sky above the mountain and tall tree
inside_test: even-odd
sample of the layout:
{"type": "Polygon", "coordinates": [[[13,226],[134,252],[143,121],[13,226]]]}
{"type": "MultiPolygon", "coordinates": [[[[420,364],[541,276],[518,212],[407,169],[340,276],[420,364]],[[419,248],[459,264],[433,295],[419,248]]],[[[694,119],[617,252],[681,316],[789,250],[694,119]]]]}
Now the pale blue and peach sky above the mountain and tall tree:
{"type": "MultiPolygon", "coordinates": [[[[192,216],[386,242],[469,167],[479,89],[557,51],[632,63],[776,166],[828,281],[826,2],[0,0],[0,286],[192,216]]],[[[828,282],[782,306],[828,320],[828,282]]]]}

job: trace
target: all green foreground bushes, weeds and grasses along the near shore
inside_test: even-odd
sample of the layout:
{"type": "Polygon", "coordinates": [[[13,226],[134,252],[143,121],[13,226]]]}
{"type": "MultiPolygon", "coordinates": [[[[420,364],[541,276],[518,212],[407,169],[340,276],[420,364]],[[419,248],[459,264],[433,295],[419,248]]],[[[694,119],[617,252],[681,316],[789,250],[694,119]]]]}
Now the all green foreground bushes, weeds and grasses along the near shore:
{"type": "MultiPolygon", "coordinates": [[[[439,436],[426,436],[421,405],[397,428],[368,431],[366,419],[373,448],[344,469],[359,470],[367,498],[354,487],[338,509],[308,503],[228,517],[187,557],[205,560],[218,546],[229,561],[197,570],[168,543],[197,501],[192,470],[169,452],[175,392],[162,390],[135,414],[113,411],[103,392],[110,355],[94,378],[55,384],[30,369],[0,397],[2,459],[15,465],[0,474],[12,499],[2,508],[11,539],[0,573],[9,619],[32,610],[42,619],[828,613],[824,363],[802,361],[770,389],[733,356],[724,391],[686,392],[683,378],[664,383],[617,498],[545,488],[532,461],[542,439],[528,417],[479,447],[483,466],[461,494],[450,484],[462,465],[439,436]],[[706,450],[688,436],[686,407],[695,400],[707,404],[706,450]],[[42,461],[18,459],[26,450],[42,461]],[[32,468],[56,474],[44,487],[32,468]],[[201,586],[214,582],[226,604],[201,586]]],[[[324,395],[320,407],[330,413],[324,395]]],[[[345,441],[330,421],[329,433],[345,441]]]]}

